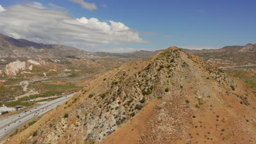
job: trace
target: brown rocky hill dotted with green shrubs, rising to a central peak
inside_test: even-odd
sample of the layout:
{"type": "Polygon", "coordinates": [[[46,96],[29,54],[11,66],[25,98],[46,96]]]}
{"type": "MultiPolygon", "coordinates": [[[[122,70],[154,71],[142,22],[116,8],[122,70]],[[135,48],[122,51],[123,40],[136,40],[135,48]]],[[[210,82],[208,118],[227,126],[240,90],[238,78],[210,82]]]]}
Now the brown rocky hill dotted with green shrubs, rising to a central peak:
{"type": "Polygon", "coordinates": [[[92,81],[9,143],[255,143],[255,95],[170,47],[92,81]]]}

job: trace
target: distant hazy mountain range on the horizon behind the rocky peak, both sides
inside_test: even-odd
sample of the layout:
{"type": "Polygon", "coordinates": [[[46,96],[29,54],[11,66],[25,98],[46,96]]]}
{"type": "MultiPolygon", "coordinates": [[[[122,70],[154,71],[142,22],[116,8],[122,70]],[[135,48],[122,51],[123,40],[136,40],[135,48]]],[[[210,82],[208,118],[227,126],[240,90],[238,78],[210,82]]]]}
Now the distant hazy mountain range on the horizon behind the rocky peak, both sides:
{"type": "MultiPolygon", "coordinates": [[[[90,59],[90,61],[95,61],[97,59],[108,59],[108,61],[113,61],[114,59],[119,59],[120,61],[130,61],[132,58],[153,57],[162,51],[142,50],[131,53],[87,52],[65,45],[38,44],[25,39],[14,39],[3,34],[0,34],[0,50],[0,58],[7,62],[13,62],[17,59],[20,61],[27,61],[28,59],[34,58],[72,58],[90,59]]],[[[182,50],[200,56],[212,63],[223,63],[224,65],[256,63],[256,44],[247,44],[246,46],[225,46],[222,49],[211,50],[182,50]]]]}

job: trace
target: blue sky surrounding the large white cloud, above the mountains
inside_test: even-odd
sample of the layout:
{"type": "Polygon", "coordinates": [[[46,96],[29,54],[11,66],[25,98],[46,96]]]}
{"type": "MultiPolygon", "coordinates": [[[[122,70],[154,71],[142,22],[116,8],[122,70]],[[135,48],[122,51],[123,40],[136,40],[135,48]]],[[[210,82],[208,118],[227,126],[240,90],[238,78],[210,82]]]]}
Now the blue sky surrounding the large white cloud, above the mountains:
{"type": "MultiPolygon", "coordinates": [[[[109,39],[106,43],[101,43],[101,41],[104,41],[104,37],[102,35],[93,35],[92,37],[96,39],[100,37],[100,42],[96,41],[95,44],[86,45],[81,41],[75,44],[77,40],[73,40],[70,43],[64,43],[65,45],[79,47],[88,51],[127,52],[141,49],[156,50],[166,49],[171,45],[189,49],[214,49],[226,45],[246,45],[256,41],[256,1],[253,0],[2,0],[0,5],[5,11],[8,11],[9,7],[31,2],[38,2],[45,9],[64,11],[63,13],[67,13],[74,19],[95,17],[101,22],[111,20],[121,22],[129,27],[129,34],[125,35],[126,33],[123,33],[120,36],[123,38],[122,40],[118,39],[117,35],[109,35],[104,37],[113,36],[114,38],[109,39]],[[89,6],[86,6],[87,8],[83,7],[83,2],[89,4],[89,6]],[[57,5],[59,8],[49,5],[49,3],[57,5]],[[136,34],[138,34],[140,40],[137,39],[136,34]],[[134,37],[134,39],[130,39],[130,37],[134,37]]],[[[5,28],[4,26],[2,27],[5,28]]],[[[11,31],[15,31],[15,28],[13,29],[2,31],[2,33],[10,35],[12,34],[11,31]]],[[[127,31],[127,28],[124,30],[127,31]]],[[[15,32],[21,38],[36,42],[40,42],[37,40],[42,38],[42,43],[49,41],[49,43],[62,44],[62,41],[59,40],[47,41],[47,39],[43,39],[46,37],[44,33],[42,35],[36,34],[37,36],[39,35],[39,38],[33,39],[33,35],[28,37],[26,34],[20,34],[21,32],[15,32]]],[[[90,33],[90,31],[86,32],[90,33]]],[[[55,34],[55,37],[58,37],[57,32],[55,34]]],[[[72,37],[69,38],[72,39],[72,37]]],[[[88,39],[85,39],[84,43],[87,42],[88,39]]]]}

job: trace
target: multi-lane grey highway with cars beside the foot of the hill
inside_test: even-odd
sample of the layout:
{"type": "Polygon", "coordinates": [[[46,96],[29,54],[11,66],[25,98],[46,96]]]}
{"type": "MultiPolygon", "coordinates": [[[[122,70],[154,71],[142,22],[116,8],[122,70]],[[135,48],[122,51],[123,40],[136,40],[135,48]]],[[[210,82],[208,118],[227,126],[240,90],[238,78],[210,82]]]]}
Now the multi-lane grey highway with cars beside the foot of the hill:
{"type": "Polygon", "coordinates": [[[13,133],[16,129],[18,129],[22,124],[30,121],[34,117],[42,115],[43,113],[54,109],[54,107],[59,106],[63,102],[65,102],[68,98],[72,97],[75,93],[63,96],[59,99],[55,99],[52,101],[45,101],[44,104],[38,105],[36,107],[32,107],[31,109],[27,109],[25,112],[22,111],[15,115],[9,116],[7,118],[0,119],[0,142],[9,134],[13,133]]]}

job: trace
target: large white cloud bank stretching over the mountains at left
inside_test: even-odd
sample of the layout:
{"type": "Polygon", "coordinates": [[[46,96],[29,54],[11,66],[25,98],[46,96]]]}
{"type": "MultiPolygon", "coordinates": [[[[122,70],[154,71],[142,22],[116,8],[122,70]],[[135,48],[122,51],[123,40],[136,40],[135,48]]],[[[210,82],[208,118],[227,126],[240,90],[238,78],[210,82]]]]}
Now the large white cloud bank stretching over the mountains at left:
{"type": "Polygon", "coordinates": [[[146,43],[124,23],[96,18],[75,19],[68,13],[13,5],[0,13],[0,33],[37,43],[97,47],[104,44],[146,43]]]}

